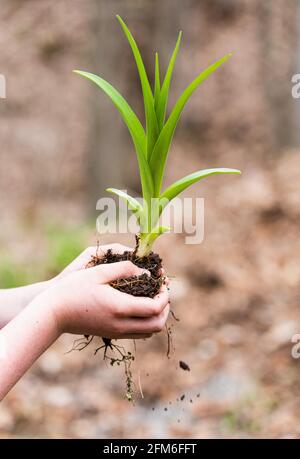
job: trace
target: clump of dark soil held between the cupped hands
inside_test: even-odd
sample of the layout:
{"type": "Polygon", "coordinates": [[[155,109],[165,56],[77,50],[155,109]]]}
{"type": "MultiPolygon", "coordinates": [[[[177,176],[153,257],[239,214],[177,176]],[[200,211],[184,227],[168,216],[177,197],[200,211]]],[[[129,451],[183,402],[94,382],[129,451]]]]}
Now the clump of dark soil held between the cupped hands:
{"type": "Polygon", "coordinates": [[[157,253],[151,252],[147,257],[139,258],[136,256],[135,251],[116,254],[111,249],[108,249],[105,254],[92,256],[91,261],[86,267],[91,268],[101,264],[116,263],[125,260],[130,260],[139,268],[147,269],[151,276],[148,276],[146,273],[141,276],[131,276],[126,279],[118,279],[111,282],[110,285],[121,292],[129,293],[133,296],[154,298],[164,282],[164,278],[161,275],[162,259],[157,253]]]}

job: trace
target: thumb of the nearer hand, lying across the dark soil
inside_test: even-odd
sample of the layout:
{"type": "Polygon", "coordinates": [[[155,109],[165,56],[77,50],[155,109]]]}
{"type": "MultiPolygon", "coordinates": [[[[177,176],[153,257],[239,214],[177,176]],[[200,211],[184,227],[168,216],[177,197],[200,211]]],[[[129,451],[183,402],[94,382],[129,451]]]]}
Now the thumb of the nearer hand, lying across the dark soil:
{"type": "Polygon", "coordinates": [[[91,268],[96,274],[97,281],[106,284],[120,278],[131,276],[140,276],[141,274],[150,275],[146,269],[141,269],[131,261],[119,261],[117,263],[108,263],[91,268]]]}

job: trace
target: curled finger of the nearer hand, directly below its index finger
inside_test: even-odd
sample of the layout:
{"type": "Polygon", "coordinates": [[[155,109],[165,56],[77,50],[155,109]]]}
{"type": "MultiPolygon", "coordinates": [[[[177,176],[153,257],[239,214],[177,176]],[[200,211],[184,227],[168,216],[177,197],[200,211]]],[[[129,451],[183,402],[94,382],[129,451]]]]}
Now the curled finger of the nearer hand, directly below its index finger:
{"type": "Polygon", "coordinates": [[[165,326],[169,311],[170,307],[167,305],[165,309],[156,317],[124,319],[122,326],[126,329],[126,334],[159,333],[165,326]]]}

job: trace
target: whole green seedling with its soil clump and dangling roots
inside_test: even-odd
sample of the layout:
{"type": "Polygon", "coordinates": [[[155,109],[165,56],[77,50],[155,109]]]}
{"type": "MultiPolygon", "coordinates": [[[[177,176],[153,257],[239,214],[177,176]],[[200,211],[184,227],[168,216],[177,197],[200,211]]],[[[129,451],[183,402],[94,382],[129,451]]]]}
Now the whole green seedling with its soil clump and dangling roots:
{"type": "MultiPolygon", "coordinates": [[[[149,296],[153,298],[159,292],[161,285],[164,282],[161,270],[162,260],[157,254],[152,252],[152,247],[158,236],[169,230],[169,228],[163,227],[159,223],[161,214],[165,207],[182,191],[205,177],[217,174],[240,174],[240,171],[237,169],[204,169],[189,174],[180,180],[177,180],[164,190],[162,189],[168,152],[177,123],[187,101],[198,86],[222,64],[224,64],[231,57],[231,54],[226,54],[222,57],[222,59],[218,60],[214,64],[211,64],[207,67],[207,69],[201,72],[183,91],[170,114],[167,115],[170,83],[180,47],[182,36],[181,32],[178,35],[174,51],[163,79],[161,76],[158,54],[155,54],[155,82],[154,88],[152,89],[138,46],[121,17],[117,16],[117,19],[130,44],[137,65],[145,107],[145,127],[143,127],[141,121],[134,113],[128,102],[110,83],[93,73],[82,70],[74,70],[74,72],[91,80],[99,88],[101,88],[105,94],[108,95],[119,110],[132,137],[139,165],[142,199],[138,200],[126,192],[116,188],[108,188],[107,191],[114,193],[127,202],[129,209],[134,213],[137,219],[140,231],[137,237],[137,245],[133,252],[125,252],[120,255],[114,254],[111,250],[108,250],[104,255],[98,256],[98,254],[96,254],[93,256],[87,267],[95,266],[101,263],[114,263],[121,260],[131,260],[141,268],[146,268],[150,271],[151,276],[142,274],[138,277],[134,276],[127,279],[118,279],[111,285],[118,290],[135,296],[149,296]]],[[[168,335],[169,353],[170,328],[166,327],[166,330],[168,335]]],[[[75,343],[75,347],[73,349],[81,350],[90,342],[91,338],[85,337],[84,341],[79,340],[79,342],[75,343]]],[[[130,364],[134,357],[131,353],[126,352],[122,347],[112,344],[109,338],[103,338],[103,344],[96,349],[96,352],[100,349],[104,349],[104,358],[109,359],[111,365],[114,365],[115,363],[117,365],[124,365],[127,384],[127,398],[128,400],[132,400],[133,390],[130,364]],[[108,349],[115,351],[117,358],[110,357],[107,354],[108,349]]],[[[188,365],[186,365],[186,368],[184,369],[188,369],[188,365]]]]}

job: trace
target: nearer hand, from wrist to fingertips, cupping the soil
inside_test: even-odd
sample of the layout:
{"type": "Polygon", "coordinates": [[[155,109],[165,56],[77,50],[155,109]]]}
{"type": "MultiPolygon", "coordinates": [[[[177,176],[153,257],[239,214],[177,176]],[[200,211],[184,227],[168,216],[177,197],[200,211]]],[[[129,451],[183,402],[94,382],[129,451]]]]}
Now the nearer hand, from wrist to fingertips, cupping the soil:
{"type": "Polygon", "coordinates": [[[154,298],[134,297],[109,285],[144,271],[130,261],[99,265],[58,280],[37,297],[54,315],[59,333],[145,338],[160,332],[169,313],[166,287],[154,298]]]}

